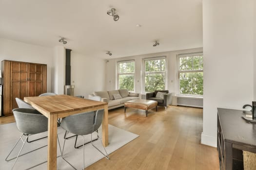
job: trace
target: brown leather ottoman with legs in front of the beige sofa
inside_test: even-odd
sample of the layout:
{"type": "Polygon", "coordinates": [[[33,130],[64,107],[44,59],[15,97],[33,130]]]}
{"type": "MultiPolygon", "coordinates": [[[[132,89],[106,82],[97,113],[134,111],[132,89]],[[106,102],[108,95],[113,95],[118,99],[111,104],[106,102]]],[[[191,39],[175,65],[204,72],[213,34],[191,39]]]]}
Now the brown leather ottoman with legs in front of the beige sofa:
{"type": "Polygon", "coordinates": [[[158,111],[158,102],[144,99],[135,99],[128,102],[124,102],[124,113],[126,112],[126,107],[145,110],[146,117],[148,117],[148,109],[156,107],[156,111],[158,111]]]}

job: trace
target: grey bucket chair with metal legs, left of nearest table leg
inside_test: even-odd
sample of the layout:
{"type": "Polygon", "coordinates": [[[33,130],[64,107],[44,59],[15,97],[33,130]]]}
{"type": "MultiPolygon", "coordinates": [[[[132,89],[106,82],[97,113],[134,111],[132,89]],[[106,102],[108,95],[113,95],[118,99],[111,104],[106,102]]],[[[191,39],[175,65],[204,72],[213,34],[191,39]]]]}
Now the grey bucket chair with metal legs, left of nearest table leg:
{"type": "MultiPolygon", "coordinates": [[[[16,162],[17,162],[17,160],[20,156],[25,155],[27,153],[31,153],[33,151],[36,151],[38,149],[41,149],[41,148],[47,146],[47,145],[44,145],[40,148],[37,148],[35,150],[32,150],[30,152],[23,153],[23,154],[20,155],[20,153],[21,153],[21,151],[22,151],[22,149],[23,149],[23,147],[24,147],[24,145],[27,141],[28,136],[34,135],[34,134],[39,134],[39,133],[42,133],[42,132],[46,132],[47,129],[48,129],[48,119],[45,116],[41,115],[35,109],[16,108],[16,109],[13,109],[13,115],[14,115],[14,118],[15,118],[15,121],[16,121],[17,128],[22,133],[22,135],[20,136],[19,140],[16,142],[16,144],[12,148],[11,152],[5,158],[5,161],[10,161],[10,160],[13,160],[13,159],[16,158],[12,169],[14,168],[14,166],[15,166],[15,164],[16,164],[16,162]],[[25,140],[23,140],[23,138],[22,138],[23,136],[26,136],[25,140]],[[13,150],[15,149],[15,147],[17,146],[17,144],[19,143],[20,140],[23,143],[21,148],[20,148],[20,152],[18,153],[18,155],[16,157],[8,159],[8,157],[13,152],[13,150]]],[[[58,142],[59,142],[59,138],[58,138],[58,142]]],[[[59,149],[60,149],[60,144],[59,144],[59,149]]],[[[61,149],[60,149],[60,153],[61,153],[61,149]]],[[[47,162],[47,161],[45,161],[45,162],[47,162]]],[[[43,163],[45,163],[45,162],[43,162],[43,163]]],[[[40,163],[38,165],[41,165],[43,163],[40,163]]],[[[36,167],[38,165],[35,165],[33,167],[36,167]]]]}

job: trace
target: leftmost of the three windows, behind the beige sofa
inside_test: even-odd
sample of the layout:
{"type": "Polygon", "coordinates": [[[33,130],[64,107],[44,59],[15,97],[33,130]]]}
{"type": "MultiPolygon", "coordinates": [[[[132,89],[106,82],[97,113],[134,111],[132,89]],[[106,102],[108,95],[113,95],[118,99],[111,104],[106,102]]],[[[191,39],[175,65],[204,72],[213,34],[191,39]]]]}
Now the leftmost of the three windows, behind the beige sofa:
{"type": "Polygon", "coordinates": [[[135,62],[120,61],[118,62],[118,89],[128,89],[128,91],[134,90],[134,78],[135,78],[135,62]]]}

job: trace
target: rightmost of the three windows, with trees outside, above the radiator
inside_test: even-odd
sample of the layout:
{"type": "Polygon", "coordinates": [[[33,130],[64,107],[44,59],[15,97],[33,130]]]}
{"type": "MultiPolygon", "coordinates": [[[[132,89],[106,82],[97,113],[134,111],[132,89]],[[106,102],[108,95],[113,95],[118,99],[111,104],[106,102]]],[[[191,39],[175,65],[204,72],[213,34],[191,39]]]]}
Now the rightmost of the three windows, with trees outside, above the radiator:
{"type": "Polygon", "coordinates": [[[203,95],[203,54],[178,55],[178,94],[203,95]]]}

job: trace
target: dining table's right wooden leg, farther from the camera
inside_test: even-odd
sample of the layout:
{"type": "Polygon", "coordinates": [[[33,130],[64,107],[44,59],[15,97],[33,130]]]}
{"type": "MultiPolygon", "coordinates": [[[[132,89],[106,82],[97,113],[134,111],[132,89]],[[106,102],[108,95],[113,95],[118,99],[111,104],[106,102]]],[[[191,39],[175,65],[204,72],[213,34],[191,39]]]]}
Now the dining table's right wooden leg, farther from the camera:
{"type": "Polygon", "coordinates": [[[104,116],[102,119],[102,143],[108,146],[108,105],[104,106],[104,116]]]}

